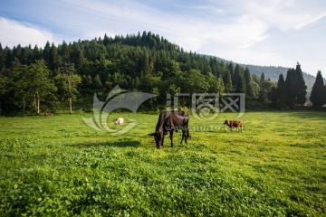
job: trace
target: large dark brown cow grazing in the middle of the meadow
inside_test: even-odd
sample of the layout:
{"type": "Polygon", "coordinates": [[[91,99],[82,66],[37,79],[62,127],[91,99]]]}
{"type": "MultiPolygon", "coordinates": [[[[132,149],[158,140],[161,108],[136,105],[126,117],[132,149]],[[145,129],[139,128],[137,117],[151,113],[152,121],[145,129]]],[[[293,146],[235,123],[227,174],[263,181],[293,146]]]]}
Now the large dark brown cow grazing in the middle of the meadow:
{"type": "Polygon", "coordinates": [[[164,136],[170,133],[171,147],[173,147],[173,131],[182,130],[181,144],[185,139],[190,137],[188,130],[189,116],[183,110],[166,110],[159,114],[158,124],[155,133],[149,134],[154,136],[157,148],[161,148],[164,143],[164,136]]]}

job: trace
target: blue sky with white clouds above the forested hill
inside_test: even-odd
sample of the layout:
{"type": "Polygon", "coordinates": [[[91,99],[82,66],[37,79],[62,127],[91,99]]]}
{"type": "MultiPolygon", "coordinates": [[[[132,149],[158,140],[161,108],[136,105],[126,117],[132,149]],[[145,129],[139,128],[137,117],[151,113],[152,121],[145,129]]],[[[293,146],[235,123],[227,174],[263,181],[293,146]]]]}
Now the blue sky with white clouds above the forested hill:
{"type": "Polygon", "coordinates": [[[325,0],[0,0],[0,42],[55,44],[151,31],[186,51],[326,78],[325,0]]]}

